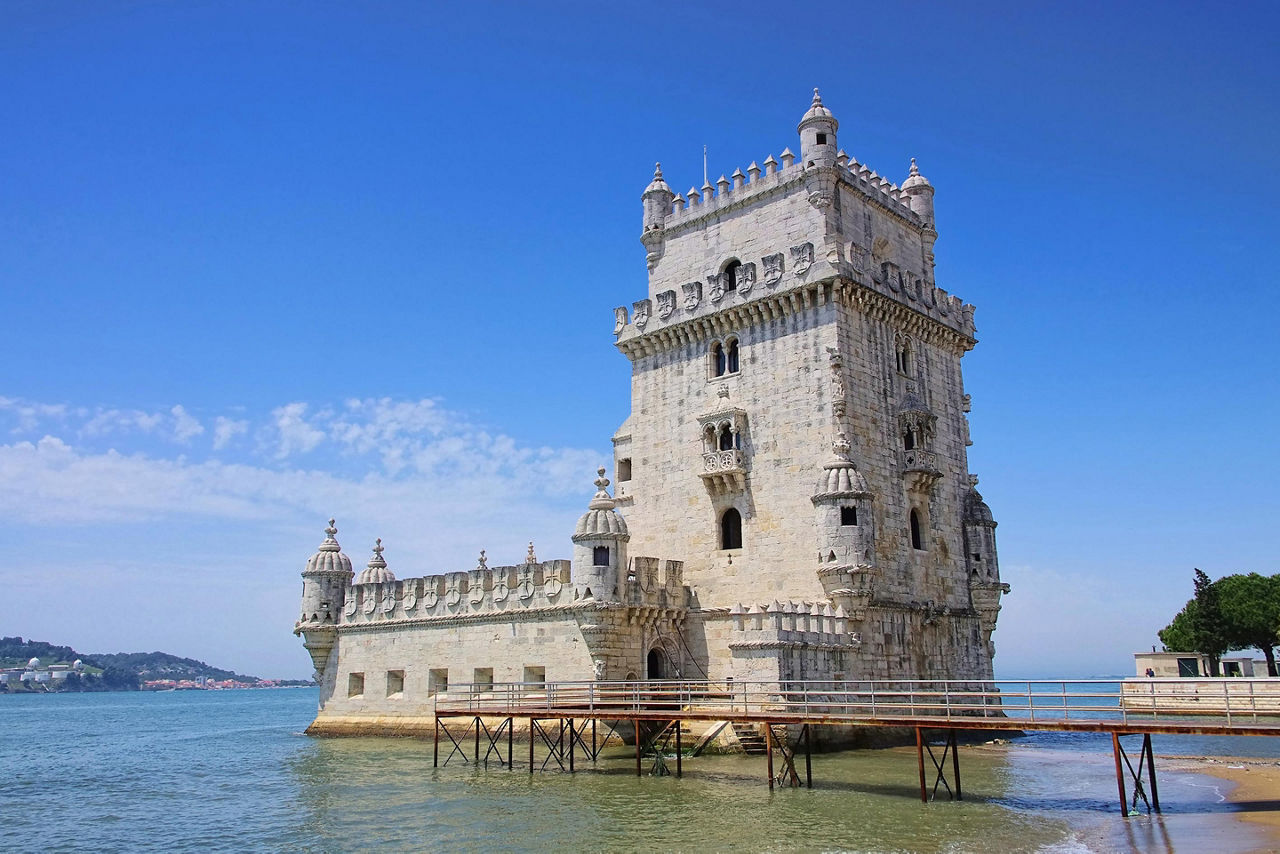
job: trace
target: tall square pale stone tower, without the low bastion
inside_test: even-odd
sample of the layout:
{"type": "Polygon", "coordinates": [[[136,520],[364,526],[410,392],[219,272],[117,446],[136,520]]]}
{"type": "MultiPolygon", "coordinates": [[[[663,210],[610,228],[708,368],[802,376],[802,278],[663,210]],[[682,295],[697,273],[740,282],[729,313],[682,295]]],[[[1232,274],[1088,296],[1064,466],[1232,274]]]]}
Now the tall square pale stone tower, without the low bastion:
{"type": "Polygon", "coordinates": [[[968,469],[973,306],[934,284],[915,161],[895,186],[837,129],[815,90],[799,160],[684,195],[655,170],[649,292],[614,310],[617,508],[635,552],[685,561],[713,679],[989,679],[1009,588],[968,469]]]}

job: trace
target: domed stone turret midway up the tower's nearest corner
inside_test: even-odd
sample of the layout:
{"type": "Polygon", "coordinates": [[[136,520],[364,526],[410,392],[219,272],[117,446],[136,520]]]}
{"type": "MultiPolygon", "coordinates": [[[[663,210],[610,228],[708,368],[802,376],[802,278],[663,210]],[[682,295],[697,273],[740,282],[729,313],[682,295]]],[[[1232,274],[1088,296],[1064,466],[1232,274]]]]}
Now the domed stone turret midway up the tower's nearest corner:
{"type": "Polygon", "coordinates": [[[849,458],[842,433],[832,443],[832,452],[835,458],[822,467],[813,494],[818,577],[831,600],[858,621],[867,613],[876,580],[872,490],[849,458]]]}

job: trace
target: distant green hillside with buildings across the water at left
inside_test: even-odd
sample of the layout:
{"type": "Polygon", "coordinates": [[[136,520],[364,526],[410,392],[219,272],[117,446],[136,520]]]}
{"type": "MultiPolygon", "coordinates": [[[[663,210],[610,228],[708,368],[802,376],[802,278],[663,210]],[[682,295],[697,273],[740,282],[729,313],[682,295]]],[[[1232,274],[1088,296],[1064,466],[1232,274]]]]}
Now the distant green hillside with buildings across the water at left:
{"type": "MultiPolygon", "coordinates": [[[[137,690],[152,680],[214,680],[216,682],[261,682],[257,676],[244,676],[230,670],[212,667],[195,658],[182,658],[163,652],[151,653],[79,653],[70,647],[59,647],[44,640],[0,638],[0,667],[26,667],[32,658],[44,666],[70,665],[77,658],[84,663],[82,677],[70,680],[68,690],[137,690]]],[[[280,681],[282,685],[303,685],[297,680],[280,681]]]]}

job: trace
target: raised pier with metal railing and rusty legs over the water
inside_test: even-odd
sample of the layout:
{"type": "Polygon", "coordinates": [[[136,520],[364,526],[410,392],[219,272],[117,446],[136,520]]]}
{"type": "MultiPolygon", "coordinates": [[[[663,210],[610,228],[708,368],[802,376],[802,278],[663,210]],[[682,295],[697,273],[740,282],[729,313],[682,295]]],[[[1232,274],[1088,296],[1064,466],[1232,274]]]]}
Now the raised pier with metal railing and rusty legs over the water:
{"type": "Polygon", "coordinates": [[[530,773],[553,763],[573,772],[579,757],[595,762],[626,727],[635,734],[636,775],[644,773],[646,754],[652,773],[671,773],[667,754],[673,750],[675,775],[681,776],[684,723],[733,723],[763,727],[771,789],[812,787],[813,727],[914,730],[924,802],[940,789],[952,799],[963,796],[960,731],[1106,732],[1124,816],[1137,814],[1139,800],[1148,812],[1160,810],[1152,735],[1280,736],[1280,680],[1267,679],[503,682],[451,685],[434,699],[436,766],[443,745],[443,764],[461,757],[512,768],[521,721],[529,729],[530,773]],[[1128,735],[1142,736],[1137,766],[1120,741],[1128,735]],[[796,768],[801,750],[803,784],[796,768]]]}

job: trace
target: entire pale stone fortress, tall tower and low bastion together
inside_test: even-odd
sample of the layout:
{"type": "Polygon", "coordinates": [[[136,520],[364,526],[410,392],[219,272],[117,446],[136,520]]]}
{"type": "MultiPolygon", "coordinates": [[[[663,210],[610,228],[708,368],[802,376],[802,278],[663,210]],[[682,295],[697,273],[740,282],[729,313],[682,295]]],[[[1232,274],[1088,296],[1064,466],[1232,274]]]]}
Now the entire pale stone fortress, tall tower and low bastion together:
{"type": "Polygon", "coordinates": [[[614,309],[631,414],[572,560],[357,575],[330,520],[294,634],[311,732],[430,731],[449,685],[992,679],[996,522],[969,474],[973,306],[933,275],[933,186],[837,143],[644,189],[648,293],[614,309]],[[613,493],[609,493],[611,480],[613,493]]]}

